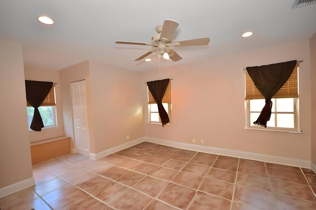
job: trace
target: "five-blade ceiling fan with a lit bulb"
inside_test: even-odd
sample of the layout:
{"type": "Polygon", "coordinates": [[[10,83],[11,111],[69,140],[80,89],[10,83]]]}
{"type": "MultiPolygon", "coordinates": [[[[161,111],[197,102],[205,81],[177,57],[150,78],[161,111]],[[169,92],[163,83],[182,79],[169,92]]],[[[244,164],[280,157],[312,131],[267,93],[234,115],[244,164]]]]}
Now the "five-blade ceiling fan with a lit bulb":
{"type": "Polygon", "coordinates": [[[210,39],[209,38],[198,38],[198,39],[189,39],[183,41],[173,42],[173,36],[175,30],[179,26],[179,23],[173,20],[164,20],[163,25],[159,25],[156,27],[156,31],[158,34],[152,37],[152,43],[145,42],[129,42],[129,41],[116,41],[117,44],[136,44],[136,45],[148,45],[152,46],[152,49],[142,55],[141,57],[135,59],[142,60],[155,51],[160,51],[163,55],[163,58],[168,60],[169,58],[173,61],[181,60],[181,56],[179,56],[172,47],[187,47],[187,46],[203,46],[208,45],[210,39]]]}

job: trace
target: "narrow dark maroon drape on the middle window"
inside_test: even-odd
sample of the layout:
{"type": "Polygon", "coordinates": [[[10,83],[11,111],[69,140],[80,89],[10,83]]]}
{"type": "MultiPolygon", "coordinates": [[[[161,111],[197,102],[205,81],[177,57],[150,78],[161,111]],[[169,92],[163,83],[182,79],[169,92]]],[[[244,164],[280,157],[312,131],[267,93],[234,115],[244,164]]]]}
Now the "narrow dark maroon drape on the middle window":
{"type": "Polygon", "coordinates": [[[164,126],[165,124],[169,122],[169,116],[167,112],[164,110],[162,106],[162,102],[161,102],[164,92],[167,89],[169,81],[170,79],[147,82],[148,89],[152,93],[153,98],[155,99],[158,105],[158,113],[162,122],[162,126],[164,126]]]}

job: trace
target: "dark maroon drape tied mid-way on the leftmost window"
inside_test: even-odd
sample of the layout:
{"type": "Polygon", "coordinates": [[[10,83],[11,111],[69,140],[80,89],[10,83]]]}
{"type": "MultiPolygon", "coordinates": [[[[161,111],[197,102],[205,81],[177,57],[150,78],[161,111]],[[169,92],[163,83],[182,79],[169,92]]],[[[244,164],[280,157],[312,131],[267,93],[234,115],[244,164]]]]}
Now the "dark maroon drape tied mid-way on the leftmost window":
{"type": "Polygon", "coordinates": [[[38,108],[48,95],[52,86],[52,82],[25,80],[26,100],[34,107],[34,116],[30,126],[32,130],[40,131],[41,128],[44,127],[38,108]]]}

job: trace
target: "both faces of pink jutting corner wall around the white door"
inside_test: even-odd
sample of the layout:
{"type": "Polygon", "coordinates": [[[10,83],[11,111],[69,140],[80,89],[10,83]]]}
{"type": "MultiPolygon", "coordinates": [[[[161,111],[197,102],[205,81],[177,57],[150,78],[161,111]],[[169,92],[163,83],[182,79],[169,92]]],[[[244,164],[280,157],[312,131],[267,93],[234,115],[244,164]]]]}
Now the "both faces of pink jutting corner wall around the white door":
{"type": "Polygon", "coordinates": [[[70,83],[85,79],[91,153],[144,137],[139,72],[90,60],[60,70],[59,76],[65,135],[74,140],[70,83]]]}

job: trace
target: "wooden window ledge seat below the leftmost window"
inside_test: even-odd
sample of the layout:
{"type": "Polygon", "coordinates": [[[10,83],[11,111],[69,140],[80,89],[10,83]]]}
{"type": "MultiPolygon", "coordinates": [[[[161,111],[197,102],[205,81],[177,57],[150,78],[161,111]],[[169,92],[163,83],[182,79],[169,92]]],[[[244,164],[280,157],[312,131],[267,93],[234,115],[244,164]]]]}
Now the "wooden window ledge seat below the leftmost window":
{"type": "Polygon", "coordinates": [[[70,137],[60,136],[30,143],[32,164],[70,153],[70,137]]]}

